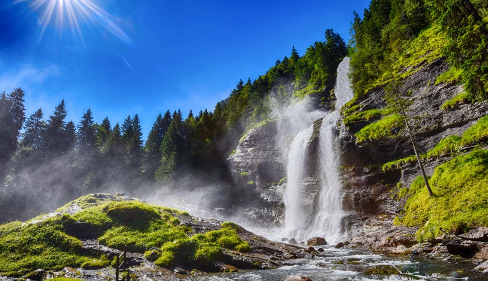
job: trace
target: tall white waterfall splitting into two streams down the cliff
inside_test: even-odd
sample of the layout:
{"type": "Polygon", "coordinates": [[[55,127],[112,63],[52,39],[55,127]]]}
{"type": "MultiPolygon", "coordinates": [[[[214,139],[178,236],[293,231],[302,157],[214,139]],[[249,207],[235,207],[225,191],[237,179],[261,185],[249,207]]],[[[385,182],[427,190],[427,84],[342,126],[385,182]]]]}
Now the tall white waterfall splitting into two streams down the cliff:
{"type": "Polygon", "coordinates": [[[348,73],[349,58],[346,57],[337,69],[335,110],[326,113],[320,127],[317,155],[319,189],[315,196],[303,184],[308,168],[306,152],[313,125],[298,132],[288,152],[283,228],[288,237],[294,237],[297,241],[318,236],[328,243],[337,243],[344,235],[342,220],[345,211],[342,206],[337,123],[341,107],[354,95],[348,73]]]}

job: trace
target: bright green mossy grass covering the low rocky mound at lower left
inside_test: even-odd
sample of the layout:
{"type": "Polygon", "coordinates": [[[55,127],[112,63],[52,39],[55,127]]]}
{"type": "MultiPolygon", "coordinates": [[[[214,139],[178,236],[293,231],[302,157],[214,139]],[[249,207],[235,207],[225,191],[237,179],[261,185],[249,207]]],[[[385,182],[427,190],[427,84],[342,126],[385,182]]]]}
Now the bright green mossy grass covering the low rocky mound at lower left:
{"type": "Polygon", "coordinates": [[[140,253],[151,247],[160,248],[152,257],[164,267],[219,260],[222,248],[250,251],[248,243],[237,235],[239,228],[232,223],[223,223],[220,230],[191,236],[191,229],[180,225],[176,217],[188,215],[186,212],[139,201],[104,201],[90,195],[75,202],[84,209],[73,216],[64,213],[38,217],[44,219],[37,223],[17,221],[1,225],[0,273],[22,276],[39,268],[108,266],[110,261],[105,256],[90,256],[83,251],[81,241],[67,233],[76,221],[88,223],[99,233],[100,243],[109,247],[140,253]]]}

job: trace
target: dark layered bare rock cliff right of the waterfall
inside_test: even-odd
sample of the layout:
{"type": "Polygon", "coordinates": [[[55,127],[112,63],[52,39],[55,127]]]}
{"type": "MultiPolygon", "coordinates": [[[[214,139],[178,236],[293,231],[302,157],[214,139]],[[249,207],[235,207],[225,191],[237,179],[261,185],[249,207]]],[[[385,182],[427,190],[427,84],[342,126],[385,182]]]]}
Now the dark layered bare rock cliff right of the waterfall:
{"type": "MultiPolygon", "coordinates": [[[[447,69],[446,63],[438,59],[405,79],[401,86],[401,91],[412,91],[412,98],[415,99],[409,114],[421,117],[416,126],[416,140],[421,152],[432,149],[442,138],[461,136],[488,113],[486,101],[459,104],[455,108],[441,110],[446,100],[463,91],[462,86],[434,85],[437,76],[447,69]]],[[[362,110],[380,109],[385,106],[384,94],[383,89],[375,89],[358,99],[356,104],[362,105],[362,110]]],[[[408,251],[410,246],[416,244],[414,234],[418,229],[393,226],[393,218],[403,209],[405,199],[396,200],[391,195],[397,183],[409,186],[420,175],[420,169],[417,164],[410,164],[401,171],[381,171],[382,164],[412,155],[413,150],[406,135],[358,145],[354,134],[373,121],[356,123],[349,130],[343,131],[340,137],[346,191],[344,201],[350,211],[348,224],[351,237],[354,237],[353,242],[386,252],[408,251]],[[397,249],[399,245],[403,247],[397,249]]],[[[450,159],[450,156],[443,156],[428,160],[424,167],[427,175],[432,175],[436,166],[450,159]]],[[[449,243],[446,242],[446,245],[449,243]]],[[[424,246],[429,249],[432,245],[424,246]]],[[[456,251],[460,247],[450,247],[451,250],[445,252],[457,255],[456,251]]],[[[480,253],[488,249],[487,245],[477,247],[479,251],[476,252],[480,253]]],[[[414,250],[410,248],[410,251],[414,250]]],[[[488,258],[484,254],[480,255],[480,258],[488,258]]]]}

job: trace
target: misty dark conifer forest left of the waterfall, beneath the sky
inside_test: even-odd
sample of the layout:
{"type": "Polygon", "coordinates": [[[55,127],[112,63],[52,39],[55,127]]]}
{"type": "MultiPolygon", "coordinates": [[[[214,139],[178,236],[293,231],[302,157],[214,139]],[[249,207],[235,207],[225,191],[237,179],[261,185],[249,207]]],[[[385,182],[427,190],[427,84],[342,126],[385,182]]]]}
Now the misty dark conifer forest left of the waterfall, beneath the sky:
{"type": "Polygon", "coordinates": [[[315,42],[303,56],[293,47],[264,75],[239,81],[213,111],[157,115],[145,141],[137,114],[114,125],[108,117],[95,122],[88,109],[75,123],[66,120],[62,100],[47,118],[41,108],[27,117],[25,93],[20,88],[3,93],[0,221],[28,218],[48,210],[49,202],[89,192],[168,188],[193,172],[240,188],[232,185],[226,158],[246,127],[270,118],[277,106],[271,99],[291,102],[300,91],[330,97],[346,53],[342,37],[328,29],[325,41],[315,42]]]}

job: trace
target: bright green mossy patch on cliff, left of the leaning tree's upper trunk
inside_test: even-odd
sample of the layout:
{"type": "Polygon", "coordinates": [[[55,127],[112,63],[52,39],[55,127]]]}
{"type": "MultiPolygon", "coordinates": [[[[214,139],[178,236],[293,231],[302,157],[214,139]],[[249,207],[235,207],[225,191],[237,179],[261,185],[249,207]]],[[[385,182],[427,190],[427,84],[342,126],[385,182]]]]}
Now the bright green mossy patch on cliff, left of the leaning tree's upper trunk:
{"type": "Polygon", "coordinates": [[[394,138],[398,136],[398,133],[403,126],[403,118],[400,115],[388,115],[362,128],[356,133],[356,138],[358,143],[366,140],[394,138]]]}

